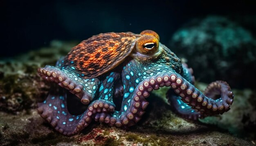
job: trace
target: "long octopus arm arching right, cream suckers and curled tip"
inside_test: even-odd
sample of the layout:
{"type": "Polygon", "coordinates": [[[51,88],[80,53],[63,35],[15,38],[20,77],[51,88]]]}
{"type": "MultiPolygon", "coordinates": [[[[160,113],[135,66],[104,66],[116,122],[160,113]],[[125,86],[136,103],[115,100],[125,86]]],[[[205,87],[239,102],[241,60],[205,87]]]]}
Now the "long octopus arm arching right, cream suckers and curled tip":
{"type": "MultiPolygon", "coordinates": [[[[130,71],[130,69],[126,69],[125,72],[130,73],[130,71]]],[[[209,96],[207,97],[175,71],[163,71],[148,77],[145,76],[138,84],[132,84],[137,76],[127,76],[126,73],[123,73],[123,82],[126,85],[124,96],[130,91],[130,88],[132,88],[133,92],[129,93],[129,96],[124,97],[121,110],[115,111],[111,117],[111,119],[116,121],[115,126],[127,127],[137,123],[149,104],[146,98],[149,97],[150,92],[158,90],[162,86],[171,86],[170,90],[172,92],[169,91],[167,97],[173,102],[173,108],[178,113],[185,115],[184,117],[198,119],[229,111],[234,95],[226,82],[216,81],[210,84],[205,92],[209,96]],[[126,77],[132,81],[124,80],[126,77]],[[133,88],[134,86],[135,88],[133,88]],[[216,96],[217,94],[220,96],[216,96]]]]}

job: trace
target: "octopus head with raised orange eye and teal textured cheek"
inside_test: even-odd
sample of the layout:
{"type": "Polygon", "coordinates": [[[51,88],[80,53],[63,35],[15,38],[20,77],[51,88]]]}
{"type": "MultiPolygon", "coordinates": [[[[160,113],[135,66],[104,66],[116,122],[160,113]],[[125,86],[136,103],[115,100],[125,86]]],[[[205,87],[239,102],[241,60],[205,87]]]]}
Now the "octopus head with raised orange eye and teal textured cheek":
{"type": "Polygon", "coordinates": [[[164,44],[159,42],[159,35],[155,31],[145,30],[140,35],[142,36],[137,39],[130,57],[144,66],[160,64],[182,74],[180,59],[164,44]]]}

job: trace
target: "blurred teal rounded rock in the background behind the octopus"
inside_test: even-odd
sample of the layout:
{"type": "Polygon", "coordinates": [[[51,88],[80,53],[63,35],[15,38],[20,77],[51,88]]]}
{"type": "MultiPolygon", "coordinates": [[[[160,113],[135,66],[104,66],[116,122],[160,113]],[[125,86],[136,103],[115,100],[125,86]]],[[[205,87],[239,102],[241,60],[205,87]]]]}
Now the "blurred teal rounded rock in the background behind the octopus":
{"type": "Polygon", "coordinates": [[[256,88],[256,39],[225,17],[194,19],[174,33],[171,48],[202,82],[225,80],[231,87],[256,88]],[[244,77],[249,77],[248,80],[244,77]]]}

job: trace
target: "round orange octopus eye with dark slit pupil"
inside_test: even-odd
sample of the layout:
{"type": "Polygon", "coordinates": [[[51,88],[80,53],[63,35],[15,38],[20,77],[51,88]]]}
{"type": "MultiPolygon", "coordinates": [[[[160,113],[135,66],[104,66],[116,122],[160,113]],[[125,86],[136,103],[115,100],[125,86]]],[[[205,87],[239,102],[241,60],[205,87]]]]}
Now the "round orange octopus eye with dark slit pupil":
{"type": "Polygon", "coordinates": [[[136,42],[136,49],[139,53],[151,54],[158,49],[159,42],[157,38],[152,35],[141,36],[136,42]]]}

